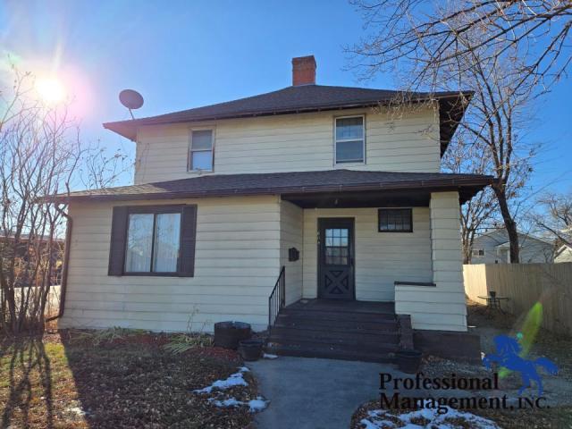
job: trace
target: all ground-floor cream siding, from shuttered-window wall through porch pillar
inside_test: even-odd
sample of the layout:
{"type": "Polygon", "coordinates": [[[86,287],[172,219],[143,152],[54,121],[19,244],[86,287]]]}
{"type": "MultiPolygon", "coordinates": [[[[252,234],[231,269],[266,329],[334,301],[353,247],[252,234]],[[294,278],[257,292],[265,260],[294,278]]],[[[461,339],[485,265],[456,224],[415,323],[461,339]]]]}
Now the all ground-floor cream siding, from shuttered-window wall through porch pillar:
{"type": "Polygon", "coordinates": [[[184,331],[191,320],[191,329],[205,324],[212,331],[215,322],[240,320],[265,329],[268,296],[282,265],[288,304],[317,295],[318,218],[352,217],[358,300],[395,300],[396,312],[411,315],[416,329],[467,330],[457,192],[433,193],[430,207],[414,207],[411,233],[378,232],[376,208],[302,209],[276,196],[159,204],[173,203],[198,205],[193,278],[108,276],[113,205],[71,205],[61,326],[184,331]],[[299,249],[299,261],[288,261],[291,247],[299,249]],[[396,281],[433,281],[436,287],[396,281]]]}

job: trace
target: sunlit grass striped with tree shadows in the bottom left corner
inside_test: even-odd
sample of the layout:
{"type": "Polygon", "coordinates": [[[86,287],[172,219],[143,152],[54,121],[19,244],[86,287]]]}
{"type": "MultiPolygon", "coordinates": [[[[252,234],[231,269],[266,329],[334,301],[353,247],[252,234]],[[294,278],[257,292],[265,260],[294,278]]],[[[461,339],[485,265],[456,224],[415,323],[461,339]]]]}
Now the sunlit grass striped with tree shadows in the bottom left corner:
{"type": "Polygon", "coordinates": [[[1,409],[0,427],[30,427],[32,400],[44,402],[43,425],[54,427],[51,363],[41,338],[2,342],[0,353],[1,383],[7,383],[7,398],[1,409]]]}

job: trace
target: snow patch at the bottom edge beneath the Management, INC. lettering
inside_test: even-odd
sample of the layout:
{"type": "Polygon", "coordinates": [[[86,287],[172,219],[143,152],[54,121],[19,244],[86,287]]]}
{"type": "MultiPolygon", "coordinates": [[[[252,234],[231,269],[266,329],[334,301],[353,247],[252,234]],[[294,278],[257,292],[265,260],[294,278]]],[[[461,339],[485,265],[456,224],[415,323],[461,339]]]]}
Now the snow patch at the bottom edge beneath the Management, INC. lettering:
{"type": "Polygon", "coordinates": [[[487,418],[475,416],[474,414],[467,413],[465,411],[458,411],[457,409],[450,407],[445,408],[447,408],[447,412],[445,414],[439,414],[437,409],[434,408],[421,408],[404,414],[399,414],[394,410],[389,409],[375,409],[374,411],[369,411],[367,413],[368,418],[363,418],[360,423],[365,425],[366,429],[451,429],[452,427],[457,427],[457,425],[450,425],[448,420],[450,418],[456,418],[463,420],[474,427],[478,427],[479,429],[501,429],[499,425],[487,418]],[[400,424],[396,424],[389,420],[389,417],[392,417],[393,419],[398,418],[400,420],[400,424]],[[412,422],[412,420],[420,417],[427,419],[429,423],[425,426],[420,426],[412,422]]]}

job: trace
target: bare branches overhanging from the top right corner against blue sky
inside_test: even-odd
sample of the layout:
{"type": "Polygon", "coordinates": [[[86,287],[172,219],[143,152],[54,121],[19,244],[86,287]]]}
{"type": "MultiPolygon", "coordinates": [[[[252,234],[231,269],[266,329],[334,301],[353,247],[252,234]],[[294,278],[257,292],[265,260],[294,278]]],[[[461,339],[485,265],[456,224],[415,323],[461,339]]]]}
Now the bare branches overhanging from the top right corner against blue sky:
{"type": "Polygon", "coordinates": [[[550,86],[572,59],[569,0],[352,0],[372,34],[354,46],[360,65],[374,74],[411,65],[413,81],[424,84],[441,69],[457,66],[471,52],[490,60],[517,51],[523,60],[512,72],[515,87],[531,80],[550,86]],[[475,33],[482,38],[473,38],[475,33]],[[362,56],[361,54],[364,54],[362,56]]]}

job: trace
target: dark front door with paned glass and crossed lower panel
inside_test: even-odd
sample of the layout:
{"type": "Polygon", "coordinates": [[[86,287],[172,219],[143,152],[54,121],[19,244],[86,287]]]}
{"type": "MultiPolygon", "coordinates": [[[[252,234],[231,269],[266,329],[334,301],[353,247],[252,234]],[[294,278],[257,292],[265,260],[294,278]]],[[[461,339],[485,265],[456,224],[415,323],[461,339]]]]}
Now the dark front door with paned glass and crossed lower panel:
{"type": "Polygon", "coordinates": [[[318,219],[318,298],[355,299],[354,219],[318,219]]]}

